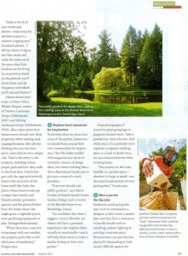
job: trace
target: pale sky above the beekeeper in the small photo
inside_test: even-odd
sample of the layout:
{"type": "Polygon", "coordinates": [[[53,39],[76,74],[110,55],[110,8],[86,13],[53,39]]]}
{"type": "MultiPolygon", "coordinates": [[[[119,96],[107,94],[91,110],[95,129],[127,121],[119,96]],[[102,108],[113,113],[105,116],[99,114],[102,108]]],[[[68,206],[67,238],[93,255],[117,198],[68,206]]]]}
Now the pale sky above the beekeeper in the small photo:
{"type": "Polygon", "coordinates": [[[186,144],[186,139],[140,139],[140,159],[148,157],[153,151],[167,146],[174,146],[176,152],[186,144]]]}

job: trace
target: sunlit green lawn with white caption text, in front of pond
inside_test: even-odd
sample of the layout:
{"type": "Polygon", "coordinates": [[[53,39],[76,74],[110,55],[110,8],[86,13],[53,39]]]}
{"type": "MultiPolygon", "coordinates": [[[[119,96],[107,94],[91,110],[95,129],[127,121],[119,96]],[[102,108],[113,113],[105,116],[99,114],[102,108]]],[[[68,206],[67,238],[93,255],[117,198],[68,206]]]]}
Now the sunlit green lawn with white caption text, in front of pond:
{"type": "Polygon", "coordinates": [[[38,102],[38,116],[162,116],[161,102],[107,104],[76,98],[52,97],[50,99],[51,102],[38,102]]]}

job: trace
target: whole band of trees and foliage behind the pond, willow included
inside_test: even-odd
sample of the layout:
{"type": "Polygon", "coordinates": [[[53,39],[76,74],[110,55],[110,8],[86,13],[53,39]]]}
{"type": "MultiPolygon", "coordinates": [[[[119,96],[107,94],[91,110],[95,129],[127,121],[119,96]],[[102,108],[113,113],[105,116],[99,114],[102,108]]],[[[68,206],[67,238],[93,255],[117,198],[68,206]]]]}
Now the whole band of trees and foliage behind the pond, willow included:
{"type": "Polygon", "coordinates": [[[86,22],[37,21],[37,98],[50,91],[69,96],[73,90],[127,90],[127,85],[162,88],[162,32],[144,34],[129,26],[120,54],[111,34],[100,32],[100,44],[87,49],[86,22]],[[92,84],[93,82],[93,84],[92,84]]]}

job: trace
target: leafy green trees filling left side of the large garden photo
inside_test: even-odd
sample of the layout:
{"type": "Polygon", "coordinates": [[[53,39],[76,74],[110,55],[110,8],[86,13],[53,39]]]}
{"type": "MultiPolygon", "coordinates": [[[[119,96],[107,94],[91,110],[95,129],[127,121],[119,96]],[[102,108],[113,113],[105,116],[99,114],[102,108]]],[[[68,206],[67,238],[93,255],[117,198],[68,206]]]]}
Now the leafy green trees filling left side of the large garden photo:
{"type": "Polygon", "coordinates": [[[81,76],[77,67],[83,72],[88,69],[82,26],[84,21],[37,21],[38,99],[45,99],[52,89],[65,93],[77,88],[77,77],[81,76]]]}

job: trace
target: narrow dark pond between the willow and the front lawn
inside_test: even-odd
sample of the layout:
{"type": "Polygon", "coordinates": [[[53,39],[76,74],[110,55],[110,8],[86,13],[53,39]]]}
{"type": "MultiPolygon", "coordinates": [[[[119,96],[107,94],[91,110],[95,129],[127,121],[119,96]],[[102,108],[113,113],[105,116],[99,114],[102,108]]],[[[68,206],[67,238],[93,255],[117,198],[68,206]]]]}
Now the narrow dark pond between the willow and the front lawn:
{"type": "Polygon", "coordinates": [[[162,95],[134,95],[125,96],[122,94],[88,94],[74,93],[71,97],[79,99],[87,99],[95,103],[114,103],[114,104],[139,104],[147,102],[162,102],[162,95]]]}

